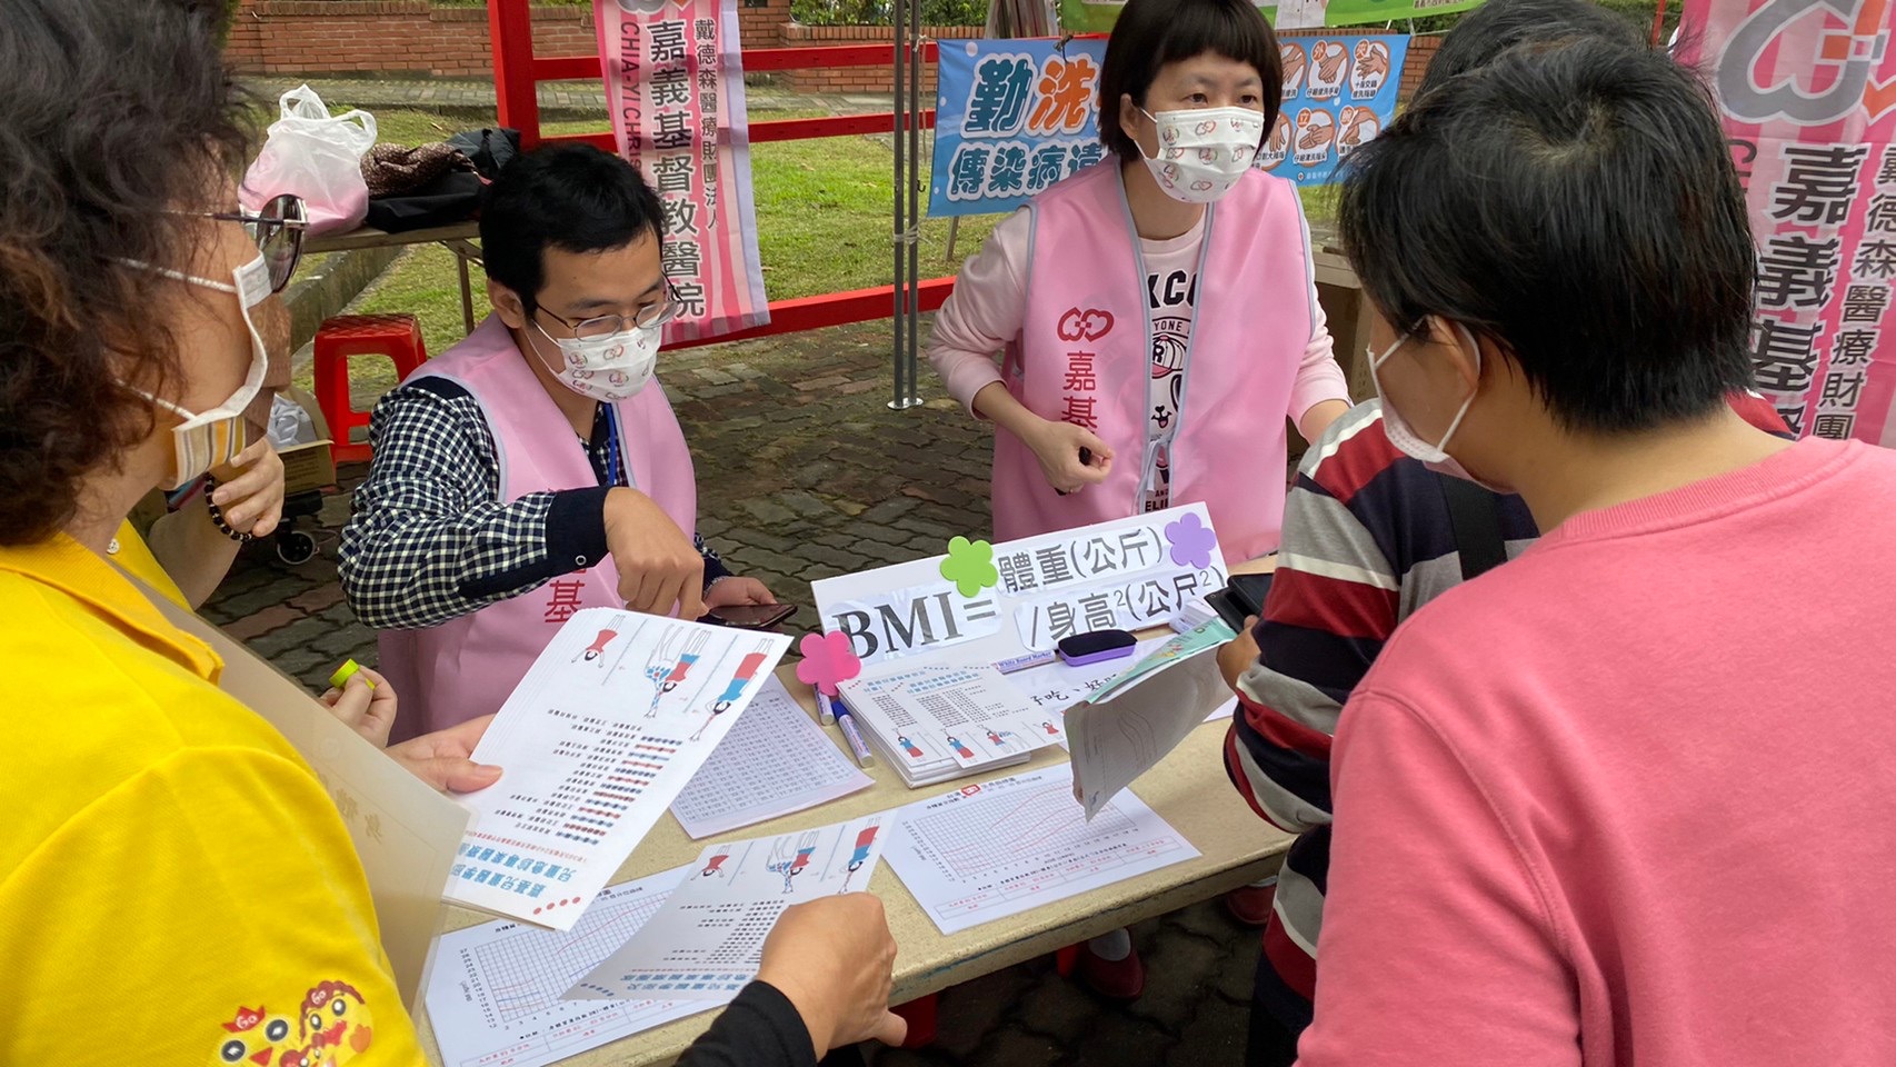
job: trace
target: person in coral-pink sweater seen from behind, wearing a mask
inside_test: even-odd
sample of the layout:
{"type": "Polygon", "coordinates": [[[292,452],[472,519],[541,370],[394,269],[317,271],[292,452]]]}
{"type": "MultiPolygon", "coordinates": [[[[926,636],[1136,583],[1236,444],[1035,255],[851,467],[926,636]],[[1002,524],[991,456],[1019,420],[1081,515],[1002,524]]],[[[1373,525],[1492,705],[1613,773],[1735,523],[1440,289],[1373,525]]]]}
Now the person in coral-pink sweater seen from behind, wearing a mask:
{"type": "Polygon", "coordinates": [[[1545,534],[1340,716],[1299,1063],[1896,1063],[1896,455],[1725,404],[1754,246],[1705,89],[1515,49],[1339,214],[1390,442],[1545,534]]]}

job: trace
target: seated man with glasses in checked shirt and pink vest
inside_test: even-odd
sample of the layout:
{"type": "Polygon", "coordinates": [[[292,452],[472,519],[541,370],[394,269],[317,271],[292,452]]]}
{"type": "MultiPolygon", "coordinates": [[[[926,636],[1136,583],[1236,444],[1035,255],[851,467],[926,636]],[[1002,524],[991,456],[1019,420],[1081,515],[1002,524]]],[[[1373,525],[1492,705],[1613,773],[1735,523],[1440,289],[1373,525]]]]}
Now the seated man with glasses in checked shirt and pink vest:
{"type": "Polygon", "coordinates": [[[590,146],[487,191],[493,315],[389,392],[341,582],[381,631],[396,739],[497,711],[573,612],[774,603],[694,536],[692,459],[652,381],[677,305],[658,195],[590,146]]]}

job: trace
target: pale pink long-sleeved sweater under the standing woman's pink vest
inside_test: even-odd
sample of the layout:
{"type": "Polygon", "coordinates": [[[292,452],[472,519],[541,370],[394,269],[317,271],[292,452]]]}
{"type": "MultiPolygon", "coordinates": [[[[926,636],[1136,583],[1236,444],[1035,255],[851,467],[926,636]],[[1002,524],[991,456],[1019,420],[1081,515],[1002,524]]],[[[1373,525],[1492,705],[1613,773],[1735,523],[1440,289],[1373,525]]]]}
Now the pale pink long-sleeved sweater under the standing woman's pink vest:
{"type": "MultiPolygon", "coordinates": [[[[948,385],[948,396],[959,400],[961,407],[971,413],[975,411],[975,394],[988,383],[1001,381],[997,364],[1001,349],[1020,335],[1028,305],[1030,229],[1028,208],[1003,218],[980,252],[961,265],[948,303],[935,315],[935,332],[929,335],[927,349],[929,362],[948,385]]],[[[1153,267],[1155,254],[1176,258],[1185,265],[1198,262],[1196,243],[1172,244],[1145,241],[1147,267],[1153,267]]],[[[1303,362],[1297,366],[1297,383],[1291,387],[1287,411],[1291,423],[1325,400],[1342,400],[1344,404],[1350,400],[1348,383],[1331,353],[1323,307],[1310,301],[1310,309],[1316,320],[1310,345],[1304,347],[1303,362]]]]}

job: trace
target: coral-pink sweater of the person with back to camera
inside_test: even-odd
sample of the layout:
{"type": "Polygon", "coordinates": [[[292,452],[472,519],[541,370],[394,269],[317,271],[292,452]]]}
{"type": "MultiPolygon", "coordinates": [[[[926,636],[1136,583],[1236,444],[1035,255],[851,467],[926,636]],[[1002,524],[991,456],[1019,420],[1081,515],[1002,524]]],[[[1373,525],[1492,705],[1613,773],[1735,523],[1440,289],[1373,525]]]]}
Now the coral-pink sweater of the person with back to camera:
{"type": "Polygon", "coordinates": [[[1587,512],[1342,713],[1304,1065],[1896,1063],[1896,453],[1587,512]]]}

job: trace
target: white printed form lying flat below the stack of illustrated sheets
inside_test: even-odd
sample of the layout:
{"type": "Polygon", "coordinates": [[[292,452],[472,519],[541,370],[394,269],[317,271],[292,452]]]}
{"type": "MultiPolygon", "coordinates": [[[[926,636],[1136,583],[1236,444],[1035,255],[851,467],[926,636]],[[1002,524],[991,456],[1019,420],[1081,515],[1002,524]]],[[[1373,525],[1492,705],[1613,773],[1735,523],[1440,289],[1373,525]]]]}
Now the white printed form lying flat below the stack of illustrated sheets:
{"type": "Polygon", "coordinates": [[[1130,792],[1086,823],[1066,764],[918,800],[891,823],[889,866],[944,934],[1198,855],[1130,792]]]}

